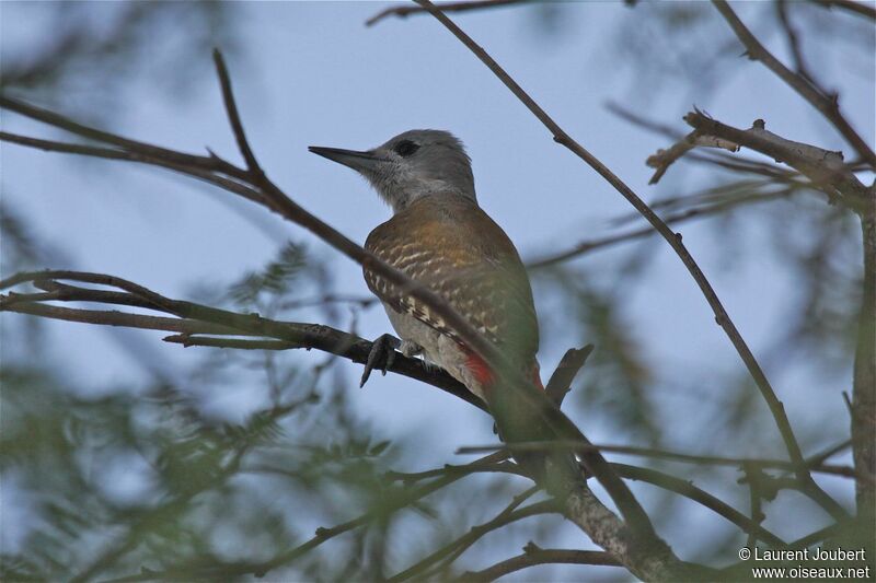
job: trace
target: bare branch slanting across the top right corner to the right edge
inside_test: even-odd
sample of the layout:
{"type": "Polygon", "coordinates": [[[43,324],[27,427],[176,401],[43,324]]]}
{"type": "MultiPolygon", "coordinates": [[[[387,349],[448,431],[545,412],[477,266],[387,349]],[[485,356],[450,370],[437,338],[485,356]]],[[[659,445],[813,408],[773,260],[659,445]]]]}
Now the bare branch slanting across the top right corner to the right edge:
{"type": "Polygon", "coordinates": [[[782,81],[796,91],[804,100],[818,109],[825,118],[830,121],[837,131],[845,138],[852,148],[867,161],[872,168],[876,168],[876,153],[867,145],[867,142],[857,135],[849,121],[840,113],[837,96],[829,96],[818,90],[805,77],[791,71],[779,59],[776,59],[766,48],[751,34],[751,31],[739,20],[726,0],[712,0],[715,8],[730,25],[739,42],[746,47],[748,58],[761,61],[768,69],[775,73],[782,81]]]}

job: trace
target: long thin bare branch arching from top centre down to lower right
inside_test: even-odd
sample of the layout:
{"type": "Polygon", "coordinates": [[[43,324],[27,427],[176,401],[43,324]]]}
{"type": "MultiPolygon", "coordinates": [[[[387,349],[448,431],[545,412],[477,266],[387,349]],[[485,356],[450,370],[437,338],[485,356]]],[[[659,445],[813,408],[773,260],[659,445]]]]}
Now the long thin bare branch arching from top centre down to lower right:
{"type": "MultiPolygon", "coordinates": [[[[782,434],[782,439],[785,443],[785,447],[788,451],[791,460],[797,466],[798,478],[802,482],[806,482],[808,485],[808,492],[811,493],[811,495],[817,497],[822,504],[831,509],[831,514],[835,518],[844,518],[846,513],[842,506],[833,501],[823,490],[821,490],[809,475],[803,458],[799,443],[797,442],[797,438],[794,435],[794,430],[791,427],[791,422],[785,415],[784,406],[776,397],[775,390],[773,390],[772,385],[766,378],[766,375],[754,358],[754,354],[751,352],[751,349],[746,343],[741,334],[739,334],[736,325],[730,319],[727,311],[724,308],[724,305],[718,299],[717,293],[712,288],[712,284],[708,282],[705,275],[703,275],[702,269],[700,269],[700,266],[693,259],[693,256],[690,254],[690,252],[688,252],[687,247],[681,242],[681,235],[670,230],[669,226],[667,226],[667,224],[661,221],[659,217],[657,217],[650,207],[648,207],[623,180],[615,176],[608,166],[588,152],[578,142],[573,140],[572,137],[566,133],[556,124],[556,121],[554,121],[553,118],[551,118],[551,116],[549,116],[548,113],[542,109],[541,106],[539,106],[539,104],[537,104],[535,101],[532,100],[532,97],[530,97],[529,94],[523,91],[523,89],[480,45],[472,40],[469,35],[466,35],[450,19],[441,13],[440,10],[435,8],[435,5],[428,0],[415,1],[419,5],[426,8],[441,24],[445,25],[445,27],[447,27],[448,31],[459,38],[462,44],[464,44],[491,71],[493,71],[493,73],[511,91],[511,93],[514,93],[515,96],[517,96],[517,98],[520,100],[520,102],[523,103],[523,105],[526,105],[527,108],[532,112],[532,114],[551,131],[554,141],[565,145],[578,158],[589,164],[609,184],[611,184],[639,213],[642,213],[643,217],[645,217],[645,219],[647,219],[652,226],[654,226],[654,229],[660,233],[667,243],[669,243],[672,249],[676,250],[679,258],[681,258],[682,263],[696,281],[710,306],[712,306],[712,310],[715,313],[715,320],[717,322],[718,326],[721,326],[730,338],[730,341],[733,342],[737,352],[739,352],[739,355],[749,370],[754,383],[758,385],[758,388],[760,389],[770,408],[770,412],[773,415],[779,431],[782,434]]],[[[591,470],[589,466],[588,470],[591,470]]]]}

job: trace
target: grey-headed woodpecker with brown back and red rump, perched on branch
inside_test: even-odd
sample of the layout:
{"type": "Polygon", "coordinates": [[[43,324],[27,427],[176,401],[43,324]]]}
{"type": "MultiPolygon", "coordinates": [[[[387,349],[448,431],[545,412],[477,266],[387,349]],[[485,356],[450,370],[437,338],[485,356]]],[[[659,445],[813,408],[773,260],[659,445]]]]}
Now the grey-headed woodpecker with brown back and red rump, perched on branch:
{"type": "MultiPolygon", "coordinates": [[[[441,296],[541,387],[529,278],[508,235],[477,203],[462,142],[447,131],[419,129],[366,151],[310,151],[358,172],[392,208],[365,248],[441,296]]],[[[495,371],[440,315],[367,267],[364,275],[402,339],[403,354],[422,354],[487,404],[495,401],[495,371]]]]}

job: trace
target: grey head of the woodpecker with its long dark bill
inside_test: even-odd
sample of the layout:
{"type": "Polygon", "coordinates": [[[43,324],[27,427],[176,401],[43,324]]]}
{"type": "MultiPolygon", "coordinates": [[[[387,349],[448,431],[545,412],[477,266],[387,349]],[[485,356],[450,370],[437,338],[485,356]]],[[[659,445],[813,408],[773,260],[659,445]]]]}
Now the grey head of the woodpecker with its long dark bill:
{"type": "Polygon", "coordinates": [[[365,176],[393,212],[437,193],[456,193],[477,203],[471,160],[448,131],[412,129],[362,152],[315,145],[309,150],[365,176]]]}

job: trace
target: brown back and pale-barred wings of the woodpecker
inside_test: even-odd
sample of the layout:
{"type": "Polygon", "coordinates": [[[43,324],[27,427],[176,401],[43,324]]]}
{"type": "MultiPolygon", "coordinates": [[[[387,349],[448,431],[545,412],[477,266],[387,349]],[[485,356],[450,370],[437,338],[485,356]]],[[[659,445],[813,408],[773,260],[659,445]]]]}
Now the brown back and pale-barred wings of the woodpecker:
{"type": "MultiPolygon", "coordinates": [[[[538,320],[523,264],[505,232],[463,197],[429,196],[374,229],[366,248],[425,284],[511,358],[534,360],[538,320]]],[[[365,270],[368,288],[396,312],[450,336],[428,306],[365,270]]]]}

